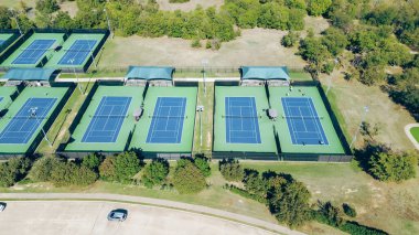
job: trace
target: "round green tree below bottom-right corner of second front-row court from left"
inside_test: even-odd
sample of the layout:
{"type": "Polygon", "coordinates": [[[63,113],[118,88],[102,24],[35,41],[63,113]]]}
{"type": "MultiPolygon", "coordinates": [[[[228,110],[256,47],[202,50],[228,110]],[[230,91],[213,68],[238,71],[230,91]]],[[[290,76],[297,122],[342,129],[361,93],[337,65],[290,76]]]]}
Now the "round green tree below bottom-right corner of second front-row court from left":
{"type": "Polygon", "coordinates": [[[136,152],[122,152],[116,157],[115,175],[119,182],[129,182],[141,169],[136,152]]]}

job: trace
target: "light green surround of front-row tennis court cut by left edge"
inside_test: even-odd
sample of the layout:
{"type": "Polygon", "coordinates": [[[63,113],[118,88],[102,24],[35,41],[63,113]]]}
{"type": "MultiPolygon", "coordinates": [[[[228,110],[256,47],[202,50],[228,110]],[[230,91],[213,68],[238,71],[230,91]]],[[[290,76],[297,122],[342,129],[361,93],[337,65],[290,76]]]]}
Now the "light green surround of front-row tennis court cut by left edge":
{"type": "MultiPolygon", "coordinates": [[[[0,133],[4,131],[8,127],[8,124],[13,120],[13,118],[19,114],[24,104],[31,98],[56,98],[56,102],[51,106],[49,111],[45,114],[45,118],[40,119],[40,125],[37,125],[36,129],[26,129],[26,127],[22,126],[22,131],[25,133],[31,131],[31,136],[29,137],[26,142],[22,143],[0,143],[0,154],[24,154],[29,151],[34,151],[34,148],[39,145],[39,140],[36,137],[41,132],[41,128],[47,121],[53,120],[52,115],[57,111],[60,104],[63,100],[63,97],[67,94],[68,87],[25,87],[18,96],[17,99],[10,105],[9,111],[7,115],[0,119],[0,133]]],[[[19,117],[18,117],[19,118],[19,117]]],[[[47,131],[47,129],[45,130],[47,131]]],[[[8,138],[8,136],[2,136],[8,138]]]]}

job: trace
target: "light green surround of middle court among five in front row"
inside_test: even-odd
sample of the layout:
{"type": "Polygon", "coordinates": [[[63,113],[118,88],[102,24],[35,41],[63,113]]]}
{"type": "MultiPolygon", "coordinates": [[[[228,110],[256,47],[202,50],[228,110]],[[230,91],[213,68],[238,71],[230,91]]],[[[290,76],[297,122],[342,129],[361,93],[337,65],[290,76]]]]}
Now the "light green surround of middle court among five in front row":
{"type": "Polygon", "coordinates": [[[137,124],[129,148],[153,153],[191,153],[195,126],[196,97],[197,87],[149,87],[146,95],[143,115],[137,124]],[[184,106],[185,118],[183,118],[182,128],[179,129],[179,131],[182,131],[179,143],[147,142],[159,97],[186,99],[184,106]]]}

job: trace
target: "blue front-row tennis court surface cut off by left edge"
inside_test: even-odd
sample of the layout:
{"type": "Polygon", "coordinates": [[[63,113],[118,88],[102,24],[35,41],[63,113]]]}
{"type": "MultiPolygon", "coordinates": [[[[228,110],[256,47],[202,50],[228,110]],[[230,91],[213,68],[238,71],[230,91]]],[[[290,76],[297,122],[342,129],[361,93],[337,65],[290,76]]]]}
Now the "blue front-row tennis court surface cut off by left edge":
{"type": "Polygon", "coordinates": [[[29,98],[18,114],[0,133],[0,143],[26,143],[51,108],[56,98],[29,98]]]}

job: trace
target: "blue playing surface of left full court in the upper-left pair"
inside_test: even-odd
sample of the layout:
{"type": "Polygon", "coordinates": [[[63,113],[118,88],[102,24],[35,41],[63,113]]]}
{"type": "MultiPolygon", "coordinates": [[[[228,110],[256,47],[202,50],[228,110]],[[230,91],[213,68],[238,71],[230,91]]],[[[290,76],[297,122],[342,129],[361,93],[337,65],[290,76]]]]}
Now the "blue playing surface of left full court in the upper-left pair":
{"type": "Polygon", "coordinates": [[[12,64],[35,64],[54,43],[55,40],[35,40],[14,58],[12,64]]]}

